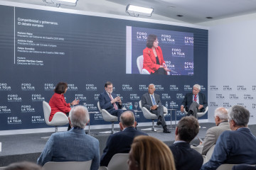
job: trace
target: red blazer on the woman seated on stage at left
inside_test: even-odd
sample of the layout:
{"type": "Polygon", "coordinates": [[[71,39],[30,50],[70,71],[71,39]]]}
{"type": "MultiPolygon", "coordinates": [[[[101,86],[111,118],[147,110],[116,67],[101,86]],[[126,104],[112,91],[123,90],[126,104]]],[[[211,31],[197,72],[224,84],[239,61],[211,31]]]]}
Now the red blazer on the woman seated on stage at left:
{"type": "Polygon", "coordinates": [[[53,115],[57,112],[69,113],[70,103],[65,102],[65,98],[63,94],[53,94],[52,98],[50,98],[49,105],[51,108],[49,121],[53,119],[53,115]]]}

